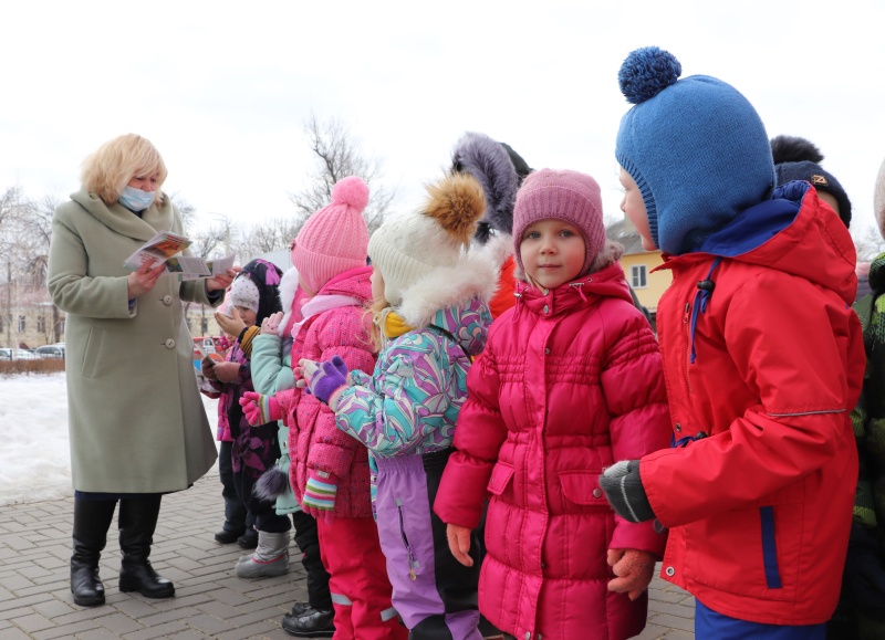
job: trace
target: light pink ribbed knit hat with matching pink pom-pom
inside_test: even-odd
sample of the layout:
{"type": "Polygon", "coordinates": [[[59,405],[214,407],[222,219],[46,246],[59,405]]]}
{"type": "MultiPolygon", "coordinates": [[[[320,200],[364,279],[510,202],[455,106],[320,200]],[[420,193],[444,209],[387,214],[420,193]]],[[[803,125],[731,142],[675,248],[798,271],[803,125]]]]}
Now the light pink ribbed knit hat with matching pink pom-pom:
{"type": "Polygon", "coordinates": [[[332,188],[332,203],[308,219],[292,248],[292,264],[304,284],[319,293],[340,273],[366,265],[368,228],[363,209],[368,187],[351,176],[332,188]]]}

